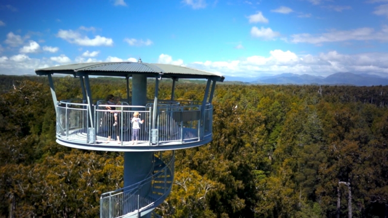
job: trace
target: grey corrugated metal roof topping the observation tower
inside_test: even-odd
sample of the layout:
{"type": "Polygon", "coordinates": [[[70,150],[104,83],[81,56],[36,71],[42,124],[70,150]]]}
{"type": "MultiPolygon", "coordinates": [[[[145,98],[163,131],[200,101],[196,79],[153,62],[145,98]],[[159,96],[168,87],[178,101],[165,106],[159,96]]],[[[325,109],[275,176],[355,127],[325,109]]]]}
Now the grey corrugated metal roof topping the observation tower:
{"type": "Polygon", "coordinates": [[[46,74],[72,74],[72,75],[96,75],[96,76],[131,76],[132,74],[146,74],[149,77],[163,78],[212,78],[224,81],[219,74],[197,70],[190,67],[162,63],[143,62],[96,62],[76,63],[54,66],[35,70],[37,75],[46,74]]]}

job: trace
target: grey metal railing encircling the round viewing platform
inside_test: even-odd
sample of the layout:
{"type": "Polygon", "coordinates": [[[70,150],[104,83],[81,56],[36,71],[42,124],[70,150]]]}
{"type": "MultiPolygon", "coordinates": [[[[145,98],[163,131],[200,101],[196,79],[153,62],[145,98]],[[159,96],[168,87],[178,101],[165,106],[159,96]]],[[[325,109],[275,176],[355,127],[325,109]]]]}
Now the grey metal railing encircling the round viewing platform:
{"type": "Polygon", "coordinates": [[[121,146],[134,143],[141,146],[185,143],[211,137],[211,104],[207,104],[204,113],[200,114],[200,102],[161,100],[158,101],[154,119],[153,103],[142,107],[129,106],[129,103],[123,102],[122,105],[113,106],[115,110],[108,110],[106,107],[112,105],[101,103],[97,101],[90,110],[94,114],[94,120],[91,121],[88,104],[75,103],[75,100],[58,102],[57,137],[85,144],[106,142],[121,146]],[[134,112],[139,112],[139,118],[144,120],[137,134],[134,134],[131,123],[134,112]],[[136,138],[137,141],[133,141],[136,138]]]}

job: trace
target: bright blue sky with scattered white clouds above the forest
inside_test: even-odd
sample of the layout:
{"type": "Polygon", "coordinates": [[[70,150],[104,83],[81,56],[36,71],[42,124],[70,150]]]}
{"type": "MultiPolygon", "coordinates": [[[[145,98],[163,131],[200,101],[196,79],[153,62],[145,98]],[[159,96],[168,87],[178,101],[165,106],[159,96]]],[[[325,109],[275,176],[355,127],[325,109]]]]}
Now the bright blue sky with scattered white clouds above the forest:
{"type": "Polygon", "coordinates": [[[388,0],[2,0],[0,74],[171,63],[226,78],[388,77],[388,0]]]}

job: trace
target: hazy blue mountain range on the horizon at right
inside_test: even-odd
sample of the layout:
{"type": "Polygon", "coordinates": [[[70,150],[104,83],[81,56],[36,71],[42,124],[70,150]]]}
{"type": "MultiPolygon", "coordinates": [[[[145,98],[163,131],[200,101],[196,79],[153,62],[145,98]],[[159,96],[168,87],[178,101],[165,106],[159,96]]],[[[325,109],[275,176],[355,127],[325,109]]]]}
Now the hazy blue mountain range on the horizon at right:
{"type": "Polygon", "coordinates": [[[265,76],[259,78],[227,78],[227,80],[239,80],[256,84],[320,84],[320,85],[356,85],[356,86],[377,86],[388,85],[388,77],[379,77],[369,74],[354,74],[354,73],[335,73],[326,78],[312,75],[297,75],[297,74],[279,74],[275,76],[265,76]]]}

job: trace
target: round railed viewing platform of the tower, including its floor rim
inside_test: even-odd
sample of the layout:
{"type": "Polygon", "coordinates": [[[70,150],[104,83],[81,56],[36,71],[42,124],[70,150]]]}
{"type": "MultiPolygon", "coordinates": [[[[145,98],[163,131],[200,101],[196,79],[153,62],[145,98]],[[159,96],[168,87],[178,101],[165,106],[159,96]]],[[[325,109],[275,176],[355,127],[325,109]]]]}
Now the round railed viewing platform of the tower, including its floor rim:
{"type": "Polygon", "coordinates": [[[108,128],[112,124],[107,116],[111,111],[105,107],[109,105],[103,100],[96,101],[91,109],[95,119],[91,120],[89,105],[81,102],[81,99],[71,99],[57,103],[56,137],[61,145],[97,151],[162,151],[195,147],[212,139],[212,105],[209,103],[205,105],[201,125],[201,102],[159,100],[154,113],[154,103],[147,103],[145,107],[131,106],[131,102],[124,99],[122,105],[115,106],[117,128],[113,128],[112,140],[108,141],[108,128]],[[136,144],[131,140],[130,120],[134,112],[139,112],[144,120],[136,144]],[[117,135],[120,141],[116,140],[117,135]]]}

